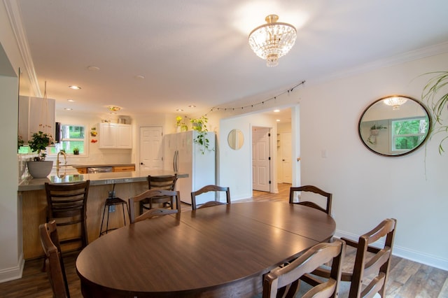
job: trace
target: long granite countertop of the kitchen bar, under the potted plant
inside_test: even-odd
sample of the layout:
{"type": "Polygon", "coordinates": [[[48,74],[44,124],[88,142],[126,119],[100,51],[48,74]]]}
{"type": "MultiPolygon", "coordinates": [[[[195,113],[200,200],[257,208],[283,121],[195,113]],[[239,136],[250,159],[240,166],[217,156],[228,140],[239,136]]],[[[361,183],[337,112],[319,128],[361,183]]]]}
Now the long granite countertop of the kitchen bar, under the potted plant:
{"type": "MultiPolygon", "coordinates": [[[[43,190],[45,182],[48,183],[73,183],[90,180],[90,185],[106,185],[114,183],[134,183],[146,181],[148,175],[151,176],[169,176],[173,171],[153,170],[153,171],[125,171],[110,173],[87,173],[87,174],[69,174],[69,175],[50,175],[47,178],[32,178],[27,176],[19,180],[18,191],[25,192],[29,190],[43,190]]],[[[177,173],[179,178],[188,177],[188,173],[177,173]]]]}

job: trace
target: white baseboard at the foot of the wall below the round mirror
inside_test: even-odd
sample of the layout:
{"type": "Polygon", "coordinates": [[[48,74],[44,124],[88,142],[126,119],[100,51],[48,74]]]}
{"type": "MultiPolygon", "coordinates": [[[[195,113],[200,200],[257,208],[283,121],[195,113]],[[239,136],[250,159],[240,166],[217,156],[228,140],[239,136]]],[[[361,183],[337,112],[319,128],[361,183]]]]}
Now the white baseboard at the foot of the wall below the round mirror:
{"type": "MultiPolygon", "coordinates": [[[[358,241],[359,236],[351,233],[346,233],[344,231],[336,230],[335,237],[341,238],[345,237],[347,239],[352,239],[358,241]]],[[[381,243],[381,241],[378,241],[381,243]]],[[[384,241],[381,243],[384,244],[384,241]]],[[[404,248],[402,246],[397,246],[394,244],[392,255],[396,255],[397,257],[402,257],[407,260],[411,260],[413,262],[418,262],[421,264],[428,265],[430,267],[435,267],[438,269],[442,269],[448,271],[448,260],[443,259],[441,257],[437,257],[435,255],[430,255],[428,253],[422,253],[417,250],[411,250],[409,248],[404,248]]]]}

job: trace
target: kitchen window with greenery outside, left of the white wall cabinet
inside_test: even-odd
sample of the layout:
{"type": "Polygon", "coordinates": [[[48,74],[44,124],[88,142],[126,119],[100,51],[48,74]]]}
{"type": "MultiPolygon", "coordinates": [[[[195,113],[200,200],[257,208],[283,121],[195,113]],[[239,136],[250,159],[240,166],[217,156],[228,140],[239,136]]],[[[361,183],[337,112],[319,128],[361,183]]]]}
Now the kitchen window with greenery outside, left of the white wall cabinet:
{"type": "Polygon", "coordinates": [[[50,154],[57,154],[60,150],[64,150],[68,154],[78,148],[80,155],[87,154],[87,143],[84,125],[61,125],[61,139],[55,147],[51,147],[48,151],[50,154]]]}

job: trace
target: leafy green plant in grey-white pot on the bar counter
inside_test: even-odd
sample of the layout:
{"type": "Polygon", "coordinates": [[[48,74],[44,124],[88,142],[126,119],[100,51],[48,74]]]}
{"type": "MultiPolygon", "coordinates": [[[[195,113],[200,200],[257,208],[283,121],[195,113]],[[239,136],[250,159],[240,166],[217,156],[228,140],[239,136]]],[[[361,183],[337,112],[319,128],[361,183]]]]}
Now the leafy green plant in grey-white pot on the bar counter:
{"type": "Polygon", "coordinates": [[[29,174],[34,178],[45,178],[50,174],[53,162],[45,161],[45,156],[47,147],[54,143],[52,135],[44,132],[35,132],[28,141],[31,152],[37,152],[37,156],[27,162],[29,174]]]}

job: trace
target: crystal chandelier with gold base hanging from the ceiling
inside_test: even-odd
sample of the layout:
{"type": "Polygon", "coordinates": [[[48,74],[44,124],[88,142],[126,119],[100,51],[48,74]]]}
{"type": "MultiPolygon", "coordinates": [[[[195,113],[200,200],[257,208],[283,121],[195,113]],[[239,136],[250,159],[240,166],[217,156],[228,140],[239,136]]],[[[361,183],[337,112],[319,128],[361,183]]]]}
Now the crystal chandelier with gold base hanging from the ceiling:
{"type": "Polygon", "coordinates": [[[258,57],[266,59],[267,66],[277,66],[279,57],[293,48],[297,31],[290,24],[277,22],[278,15],[268,15],[265,20],[267,24],[256,27],[249,34],[249,45],[258,57]]]}

